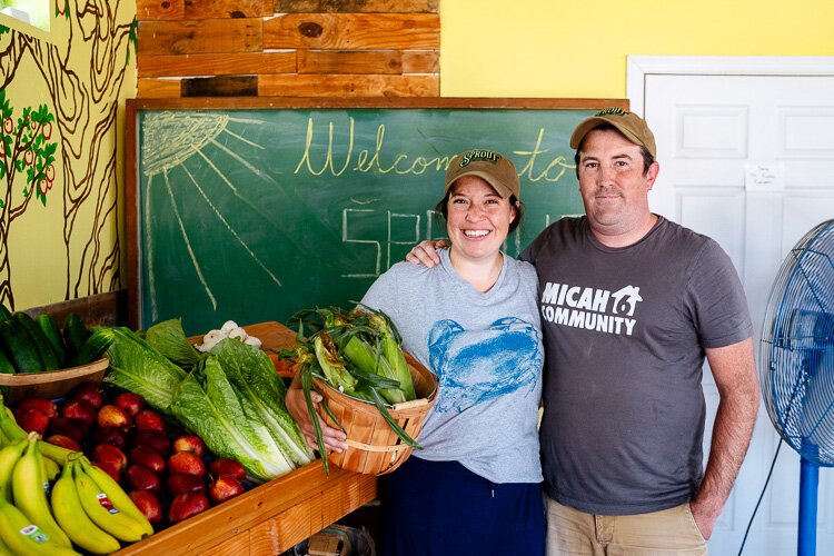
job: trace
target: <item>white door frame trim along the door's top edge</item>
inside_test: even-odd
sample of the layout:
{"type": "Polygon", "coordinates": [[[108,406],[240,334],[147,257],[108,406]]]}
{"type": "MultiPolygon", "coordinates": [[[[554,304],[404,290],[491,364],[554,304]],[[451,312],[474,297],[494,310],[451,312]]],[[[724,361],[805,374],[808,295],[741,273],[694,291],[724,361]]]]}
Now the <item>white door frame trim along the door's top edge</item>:
{"type": "Polygon", "coordinates": [[[627,56],[626,97],[643,116],[649,75],[834,76],[833,56],[627,56]]]}

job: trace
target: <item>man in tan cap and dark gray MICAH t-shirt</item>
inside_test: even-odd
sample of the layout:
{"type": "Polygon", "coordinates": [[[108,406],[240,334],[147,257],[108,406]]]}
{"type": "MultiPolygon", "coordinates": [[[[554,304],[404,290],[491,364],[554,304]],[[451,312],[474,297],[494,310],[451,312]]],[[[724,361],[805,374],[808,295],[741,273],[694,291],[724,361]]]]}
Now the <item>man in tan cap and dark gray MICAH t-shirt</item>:
{"type": "Polygon", "coordinates": [[[520,257],[545,336],[547,552],[706,554],[758,407],[742,286],[715,241],[651,212],[659,165],[643,119],[603,110],[570,147],[585,216],[520,257]],[[706,469],[704,358],[721,396],[706,469]]]}

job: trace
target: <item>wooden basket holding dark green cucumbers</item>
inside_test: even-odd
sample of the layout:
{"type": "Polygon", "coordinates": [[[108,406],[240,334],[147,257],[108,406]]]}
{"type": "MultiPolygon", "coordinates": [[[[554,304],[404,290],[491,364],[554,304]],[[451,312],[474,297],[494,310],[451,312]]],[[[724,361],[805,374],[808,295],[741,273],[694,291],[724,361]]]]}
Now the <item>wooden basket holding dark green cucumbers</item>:
{"type": "Polygon", "coordinates": [[[9,395],[3,396],[3,401],[13,404],[23,398],[61,398],[79,384],[101,383],[109,366],[110,359],[103,357],[68,369],[0,375],[0,386],[9,387],[9,395]]]}

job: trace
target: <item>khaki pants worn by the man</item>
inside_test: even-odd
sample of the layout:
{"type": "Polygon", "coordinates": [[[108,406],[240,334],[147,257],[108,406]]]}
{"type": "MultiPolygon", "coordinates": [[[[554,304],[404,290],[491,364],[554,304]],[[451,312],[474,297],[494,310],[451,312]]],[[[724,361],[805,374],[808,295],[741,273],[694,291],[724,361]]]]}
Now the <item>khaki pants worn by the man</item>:
{"type": "Polygon", "coordinates": [[[706,555],[689,505],[633,516],[585,514],[547,499],[547,556],[706,555]]]}

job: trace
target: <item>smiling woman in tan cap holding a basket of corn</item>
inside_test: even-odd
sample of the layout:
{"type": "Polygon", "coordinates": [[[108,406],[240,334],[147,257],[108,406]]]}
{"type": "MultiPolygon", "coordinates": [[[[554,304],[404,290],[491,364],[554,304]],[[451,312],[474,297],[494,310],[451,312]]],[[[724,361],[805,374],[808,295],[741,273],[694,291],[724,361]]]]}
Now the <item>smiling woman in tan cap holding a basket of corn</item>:
{"type": "MultiPolygon", "coordinates": [[[[456,156],[437,206],[451,241],[441,264],[397,264],[363,299],[440,385],[423,449],[379,478],[384,555],[544,554],[536,272],[500,251],[522,220],[519,190],[502,155],[456,156]]],[[[315,446],[300,390],[287,406],[315,446]]],[[[344,438],[325,430],[328,448],[346,449],[344,438]]]]}

